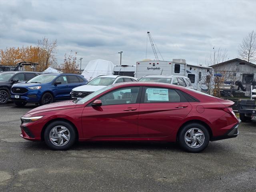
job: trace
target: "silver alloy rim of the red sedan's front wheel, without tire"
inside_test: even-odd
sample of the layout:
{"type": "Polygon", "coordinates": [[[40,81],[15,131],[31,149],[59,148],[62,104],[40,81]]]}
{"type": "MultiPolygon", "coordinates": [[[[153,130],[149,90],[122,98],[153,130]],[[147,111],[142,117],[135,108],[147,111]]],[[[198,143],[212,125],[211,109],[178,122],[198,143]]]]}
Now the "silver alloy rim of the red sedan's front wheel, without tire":
{"type": "Polygon", "coordinates": [[[64,126],[55,126],[50,130],[49,138],[55,146],[64,146],[70,140],[70,132],[64,126]]]}

